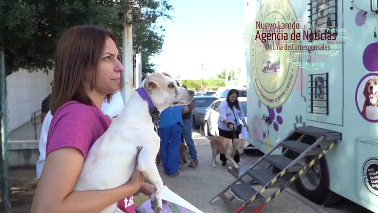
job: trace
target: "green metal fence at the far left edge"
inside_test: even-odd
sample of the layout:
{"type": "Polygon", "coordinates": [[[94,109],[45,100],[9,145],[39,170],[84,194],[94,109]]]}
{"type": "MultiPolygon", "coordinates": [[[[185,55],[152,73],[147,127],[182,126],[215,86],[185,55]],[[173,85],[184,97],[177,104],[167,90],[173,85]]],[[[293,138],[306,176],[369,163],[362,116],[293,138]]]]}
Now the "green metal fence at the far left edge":
{"type": "Polygon", "coordinates": [[[8,179],[8,103],[6,92],[5,50],[0,47],[0,212],[10,213],[11,203],[8,179]]]}

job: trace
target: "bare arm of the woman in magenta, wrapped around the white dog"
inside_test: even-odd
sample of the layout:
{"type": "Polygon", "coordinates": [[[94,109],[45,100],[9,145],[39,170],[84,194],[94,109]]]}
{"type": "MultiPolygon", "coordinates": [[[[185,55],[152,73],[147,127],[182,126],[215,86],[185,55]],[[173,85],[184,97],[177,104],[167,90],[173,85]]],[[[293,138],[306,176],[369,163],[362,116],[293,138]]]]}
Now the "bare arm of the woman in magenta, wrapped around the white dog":
{"type": "Polygon", "coordinates": [[[46,163],[34,194],[31,213],[93,213],[134,194],[144,178],[112,190],[72,191],[84,164],[82,153],[73,147],[57,149],[46,163]]]}

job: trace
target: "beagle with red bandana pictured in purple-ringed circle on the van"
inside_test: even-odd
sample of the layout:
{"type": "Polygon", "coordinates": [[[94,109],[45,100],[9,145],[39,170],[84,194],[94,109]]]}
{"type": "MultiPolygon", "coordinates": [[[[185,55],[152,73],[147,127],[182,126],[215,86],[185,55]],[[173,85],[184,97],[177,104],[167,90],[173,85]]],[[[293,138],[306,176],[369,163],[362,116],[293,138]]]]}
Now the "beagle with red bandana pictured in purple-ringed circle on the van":
{"type": "Polygon", "coordinates": [[[378,119],[378,78],[371,78],[366,82],[364,88],[365,102],[362,108],[362,114],[369,119],[378,119]],[[374,112],[376,111],[376,112],[374,112]]]}

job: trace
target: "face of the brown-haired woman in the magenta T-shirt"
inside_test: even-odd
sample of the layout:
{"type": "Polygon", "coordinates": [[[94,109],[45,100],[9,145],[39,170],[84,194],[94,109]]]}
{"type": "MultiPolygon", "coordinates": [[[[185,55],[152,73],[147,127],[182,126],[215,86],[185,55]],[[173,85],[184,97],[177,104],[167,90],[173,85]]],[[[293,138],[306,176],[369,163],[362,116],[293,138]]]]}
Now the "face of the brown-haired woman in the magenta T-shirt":
{"type": "Polygon", "coordinates": [[[99,68],[97,70],[96,86],[94,90],[106,96],[119,90],[121,72],[125,70],[118,60],[119,53],[115,42],[107,37],[105,47],[100,55],[99,68]]]}

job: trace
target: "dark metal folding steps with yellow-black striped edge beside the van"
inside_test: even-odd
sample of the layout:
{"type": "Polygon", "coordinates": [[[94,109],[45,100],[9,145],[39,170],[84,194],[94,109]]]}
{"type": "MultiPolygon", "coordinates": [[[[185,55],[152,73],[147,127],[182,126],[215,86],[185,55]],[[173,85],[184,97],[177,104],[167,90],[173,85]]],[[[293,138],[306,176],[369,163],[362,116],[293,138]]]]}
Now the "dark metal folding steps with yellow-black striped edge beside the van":
{"type": "MultiPolygon", "coordinates": [[[[273,149],[261,157],[255,164],[245,169],[237,179],[223,189],[214,199],[211,200],[211,204],[215,202],[219,197],[225,202],[230,212],[239,213],[247,205],[257,202],[257,208],[253,211],[256,213],[265,205],[267,205],[274,197],[278,196],[284,188],[293,183],[300,175],[304,174],[305,170],[311,168],[314,165],[315,159],[320,159],[326,152],[333,148],[335,144],[341,141],[341,133],[326,130],[317,127],[299,127],[289,133],[289,135],[273,149]],[[301,135],[299,138],[298,133],[301,135]],[[312,144],[307,144],[303,140],[307,136],[316,138],[316,141],[312,144]],[[296,140],[293,140],[296,139],[296,140]],[[319,144],[323,141],[333,141],[326,149],[319,148],[319,144]],[[286,150],[281,155],[272,155],[274,150],[279,146],[284,147],[286,150]],[[293,151],[299,154],[295,159],[285,157],[285,153],[293,151]],[[306,156],[314,156],[314,160],[311,160],[307,165],[299,163],[302,158],[306,156]],[[260,166],[261,163],[268,163],[268,166],[260,166]],[[262,169],[264,168],[265,169],[262,169]],[[271,168],[277,168],[280,170],[278,173],[274,173],[271,168]],[[283,175],[290,175],[294,172],[294,175],[285,182],[282,179],[283,175]],[[246,182],[245,180],[249,180],[246,182]],[[241,182],[241,183],[240,183],[241,182]],[[257,183],[262,186],[257,190],[252,187],[253,183],[257,183]],[[263,193],[267,193],[268,188],[278,188],[276,192],[270,196],[265,196],[263,193]],[[226,196],[226,193],[231,194],[231,198],[226,196]],[[227,198],[227,199],[226,199],[227,198]],[[231,200],[237,199],[242,202],[239,208],[234,209],[234,205],[231,205],[231,200]]],[[[235,174],[235,173],[234,173],[235,174]]]]}

